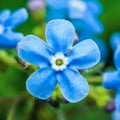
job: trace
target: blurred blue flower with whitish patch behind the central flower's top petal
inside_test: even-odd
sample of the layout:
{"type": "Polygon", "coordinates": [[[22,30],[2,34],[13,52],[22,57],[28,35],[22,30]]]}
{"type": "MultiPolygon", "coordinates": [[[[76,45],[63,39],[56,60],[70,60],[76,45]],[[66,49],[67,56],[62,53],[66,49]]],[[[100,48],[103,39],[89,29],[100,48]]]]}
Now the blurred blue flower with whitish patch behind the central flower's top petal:
{"type": "Polygon", "coordinates": [[[69,19],[79,36],[102,33],[104,27],[98,16],[102,6],[98,0],[46,0],[47,21],[57,18],[69,19]],[[88,29],[89,28],[89,29],[88,29]]]}

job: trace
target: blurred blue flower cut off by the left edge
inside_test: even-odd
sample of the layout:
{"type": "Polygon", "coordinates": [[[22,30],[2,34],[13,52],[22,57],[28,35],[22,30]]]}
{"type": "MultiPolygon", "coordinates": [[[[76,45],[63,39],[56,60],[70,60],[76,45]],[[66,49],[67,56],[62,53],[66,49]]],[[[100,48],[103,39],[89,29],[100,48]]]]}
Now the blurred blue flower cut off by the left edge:
{"type": "Polygon", "coordinates": [[[13,30],[28,17],[24,8],[11,13],[10,10],[0,12],[0,48],[14,48],[23,37],[22,33],[13,30]]]}

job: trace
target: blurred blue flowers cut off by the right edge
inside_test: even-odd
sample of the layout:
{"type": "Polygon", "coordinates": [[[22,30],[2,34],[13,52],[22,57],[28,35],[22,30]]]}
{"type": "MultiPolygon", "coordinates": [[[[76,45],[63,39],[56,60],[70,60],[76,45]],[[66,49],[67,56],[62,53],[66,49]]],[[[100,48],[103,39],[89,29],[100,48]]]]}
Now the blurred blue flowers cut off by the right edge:
{"type": "Polygon", "coordinates": [[[114,65],[117,70],[105,72],[103,74],[103,86],[107,89],[114,89],[117,91],[115,96],[115,109],[113,118],[118,120],[120,118],[120,33],[116,32],[111,36],[111,48],[114,52],[114,65]]]}

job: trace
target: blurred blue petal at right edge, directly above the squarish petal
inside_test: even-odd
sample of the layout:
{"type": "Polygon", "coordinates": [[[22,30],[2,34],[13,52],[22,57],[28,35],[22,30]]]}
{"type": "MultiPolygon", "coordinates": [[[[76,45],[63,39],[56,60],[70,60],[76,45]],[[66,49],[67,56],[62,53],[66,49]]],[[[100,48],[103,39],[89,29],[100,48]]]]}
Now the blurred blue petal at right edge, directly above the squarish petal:
{"type": "Polygon", "coordinates": [[[114,63],[117,69],[120,70],[120,47],[117,48],[114,54],[114,63]]]}

